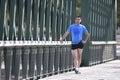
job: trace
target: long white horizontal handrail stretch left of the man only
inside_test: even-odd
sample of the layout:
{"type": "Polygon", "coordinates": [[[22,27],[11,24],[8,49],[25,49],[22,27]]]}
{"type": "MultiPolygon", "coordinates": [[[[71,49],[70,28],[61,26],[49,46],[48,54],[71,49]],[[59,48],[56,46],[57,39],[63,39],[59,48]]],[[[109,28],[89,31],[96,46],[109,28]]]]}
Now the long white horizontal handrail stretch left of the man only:
{"type": "Polygon", "coordinates": [[[71,41],[0,41],[0,47],[39,45],[71,45],[71,41]]]}

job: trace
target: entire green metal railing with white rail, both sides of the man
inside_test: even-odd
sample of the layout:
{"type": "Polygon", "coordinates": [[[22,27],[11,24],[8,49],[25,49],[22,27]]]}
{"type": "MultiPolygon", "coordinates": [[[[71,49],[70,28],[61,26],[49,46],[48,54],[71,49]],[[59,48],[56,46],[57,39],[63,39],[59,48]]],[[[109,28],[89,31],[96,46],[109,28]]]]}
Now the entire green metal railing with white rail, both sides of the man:
{"type": "MultiPolygon", "coordinates": [[[[90,38],[82,66],[115,59],[115,1],[81,0],[82,24],[90,38]]],[[[76,0],[0,0],[0,80],[39,79],[73,70],[71,37],[76,0]]]]}

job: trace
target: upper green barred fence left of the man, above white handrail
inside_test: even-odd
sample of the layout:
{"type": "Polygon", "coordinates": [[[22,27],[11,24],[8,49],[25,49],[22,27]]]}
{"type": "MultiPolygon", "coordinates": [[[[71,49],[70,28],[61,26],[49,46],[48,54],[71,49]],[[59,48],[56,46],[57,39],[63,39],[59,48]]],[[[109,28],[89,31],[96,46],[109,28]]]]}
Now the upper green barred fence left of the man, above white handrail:
{"type": "Polygon", "coordinates": [[[0,0],[0,4],[0,40],[57,41],[76,15],[75,0],[0,0]]]}

